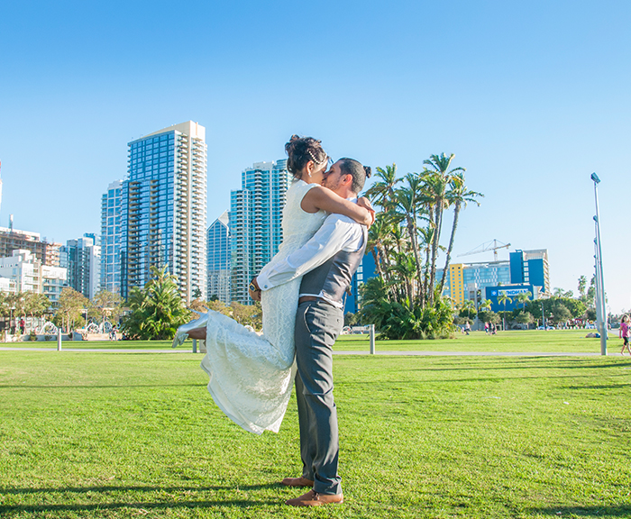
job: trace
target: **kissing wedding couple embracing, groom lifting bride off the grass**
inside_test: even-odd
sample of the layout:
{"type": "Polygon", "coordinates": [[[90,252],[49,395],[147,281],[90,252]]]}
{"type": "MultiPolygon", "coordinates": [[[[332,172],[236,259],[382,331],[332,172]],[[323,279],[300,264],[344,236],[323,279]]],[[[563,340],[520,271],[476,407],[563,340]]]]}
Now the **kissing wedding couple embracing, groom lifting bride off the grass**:
{"type": "Polygon", "coordinates": [[[285,150],[294,182],[283,242],[250,284],[251,298],[261,301],[262,335],[209,311],[180,326],[173,347],[187,337],[206,340],[208,391],[249,432],[279,432],[295,383],[303,469],[282,484],[311,489],[287,505],[342,503],[333,345],[343,328],[343,294],[374,222],[370,202],[358,200],[370,168],[354,159],[333,162],[311,137],[294,135],[285,150]]]}

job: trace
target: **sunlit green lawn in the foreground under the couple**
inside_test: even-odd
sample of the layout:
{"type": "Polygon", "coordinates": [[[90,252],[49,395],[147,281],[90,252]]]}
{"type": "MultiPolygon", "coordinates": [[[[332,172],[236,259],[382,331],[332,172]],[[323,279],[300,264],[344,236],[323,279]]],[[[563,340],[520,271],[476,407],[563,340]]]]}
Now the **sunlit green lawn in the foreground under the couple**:
{"type": "Polygon", "coordinates": [[[628,359],[335,357],[346,503],[317,510],[277,483],[295,400],[279,434],[242,432],[199,360],[0,351],[0,516],[631,516],[628,359]]]}

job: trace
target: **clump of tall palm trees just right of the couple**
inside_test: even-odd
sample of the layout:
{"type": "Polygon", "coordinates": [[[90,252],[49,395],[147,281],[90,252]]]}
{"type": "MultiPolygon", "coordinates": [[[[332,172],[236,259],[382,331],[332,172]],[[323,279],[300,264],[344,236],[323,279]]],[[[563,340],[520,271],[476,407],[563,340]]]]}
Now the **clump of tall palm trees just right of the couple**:
{"type": "Polygon", "coordinates": [[[404,178],[397,178],[395,164],[377,168],[378,181],[367,192],[373,205],[381,209],[370,229],[367,249],[382,281],[379,290],[369,287],[368,293],[380,292],[385,300],[362,300],[362,319],[381,323],[383,337],[444,335],[453,325],[451,310],[448,324],[438,324],[444,307],[451,308],[448,298],[443,297],[445,278],[440,283],[436,280],[436,258],[439,250],[444,250],[440,244],[444,210],[454,207],[445,266],[448,270],[459,214],[468,202],[480,196],[465,186],[464,168],[452,168],[453,157],[432,155],[424,161],[420,173],[408,173],[404,178]],[[439,329],[442,331],[437,332],[439,329]]]}

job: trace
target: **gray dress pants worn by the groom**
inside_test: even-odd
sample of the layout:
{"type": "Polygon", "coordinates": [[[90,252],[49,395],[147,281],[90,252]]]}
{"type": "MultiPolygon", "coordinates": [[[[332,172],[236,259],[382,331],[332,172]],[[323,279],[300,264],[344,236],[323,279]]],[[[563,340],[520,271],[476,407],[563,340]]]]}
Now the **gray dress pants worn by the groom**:
{"type": "Polygon", "coordinates": [[[333,398],[333,345],[343,311],[320,301],[298,305],[296,397],[303,477],[319,494],[342,494],[337,474],[340,444],[333,398]]]}

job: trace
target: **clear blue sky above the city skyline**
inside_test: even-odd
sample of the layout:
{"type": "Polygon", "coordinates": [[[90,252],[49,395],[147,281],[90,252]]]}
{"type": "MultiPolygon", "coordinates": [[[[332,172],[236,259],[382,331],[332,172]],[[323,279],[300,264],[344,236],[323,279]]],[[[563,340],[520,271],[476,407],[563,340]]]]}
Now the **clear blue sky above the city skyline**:
{"type": "Polygon", "coordinates": [[[100,232],[127,142],[193,120],[209,223],[292,133],[401,175],[455,153],[485,195],[455,254],[494,238],[547,248],[553,287],[576,292],[593,272],[596,171],[608,305],[629,310],[630,15],[608,1],[5,2],[0,225],[100,232]]]}

